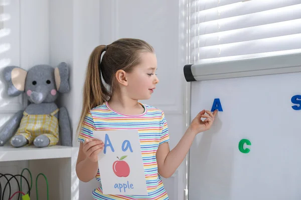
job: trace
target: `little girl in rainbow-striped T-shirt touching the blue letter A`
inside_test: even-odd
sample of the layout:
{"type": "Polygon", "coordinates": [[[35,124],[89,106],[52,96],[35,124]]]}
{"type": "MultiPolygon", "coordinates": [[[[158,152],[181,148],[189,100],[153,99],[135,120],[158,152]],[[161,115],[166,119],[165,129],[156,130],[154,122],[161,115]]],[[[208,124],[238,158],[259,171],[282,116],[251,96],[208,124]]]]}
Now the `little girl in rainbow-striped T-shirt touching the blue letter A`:
{"type": "Polygon", "coordinates": [[[134,128],[138,130],[140,142],[143,141],[141,146],[145,146],[141,152],[148,193],[104,195],[100,186],[92,192],[95,199],[169,199],[161,176],[168,178],[176,171],[196,134],[208,130],[214,121],[217,110],[213,113],[202,110],[177,146],[170,150],[164,112],[138,102],[149,99],[156,89],[159,82],[156,69],[154,48],[140,39],[123,38],[109,45],[99,45],[90,55],[78,126],[77,176],[84,182],[94,177],[101,182],[97,154],[103,150],[104,143],[94,138],[93,130],[134,128]]]}

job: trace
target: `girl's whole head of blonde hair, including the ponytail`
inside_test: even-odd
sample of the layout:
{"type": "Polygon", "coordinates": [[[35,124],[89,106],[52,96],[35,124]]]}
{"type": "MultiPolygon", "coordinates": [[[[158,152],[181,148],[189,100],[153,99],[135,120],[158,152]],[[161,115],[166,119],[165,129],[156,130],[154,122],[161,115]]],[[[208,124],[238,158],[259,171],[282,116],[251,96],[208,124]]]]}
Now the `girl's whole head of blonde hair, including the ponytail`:
{"type": "Polygon", "coordinates": [[[83,106],[77,132],[80,131],[88,112],[108,101],[117,90],[116,71],[122,69],[130,72],[139,64],[139,55],[142,52],[154,52],[154,48],[146,41],[134,38],[121,38],[109,45],[99,45],[94,48],[88,61],[83,88],[83,106]],[[101,76],[109,88],[102,82],[101,76]]]}

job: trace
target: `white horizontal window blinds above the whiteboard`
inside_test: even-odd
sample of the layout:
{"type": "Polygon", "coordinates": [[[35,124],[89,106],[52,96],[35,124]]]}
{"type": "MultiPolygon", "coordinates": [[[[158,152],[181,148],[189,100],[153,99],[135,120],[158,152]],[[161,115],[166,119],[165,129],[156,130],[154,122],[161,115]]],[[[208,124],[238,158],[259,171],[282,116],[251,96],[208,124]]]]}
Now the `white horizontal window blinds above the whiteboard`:
{"type": "Polygon", "coordinates": [[[301,52],[301,0],[189,0],[189,61],[301,52]]]}

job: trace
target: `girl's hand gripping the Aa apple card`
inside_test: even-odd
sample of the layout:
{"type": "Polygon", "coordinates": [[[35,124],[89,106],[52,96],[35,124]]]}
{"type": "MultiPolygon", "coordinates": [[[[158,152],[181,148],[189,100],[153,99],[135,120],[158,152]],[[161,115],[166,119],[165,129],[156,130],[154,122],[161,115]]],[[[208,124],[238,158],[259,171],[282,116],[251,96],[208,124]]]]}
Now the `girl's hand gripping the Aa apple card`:
{"type": "Polygon", "coordinates": [[[83,152],[89,160],[91,160],[92,162],[97,162],[97,155],[103,149],[103,146],[103,141],[99,139],[86,139],[83,146],[83,152]]]}

